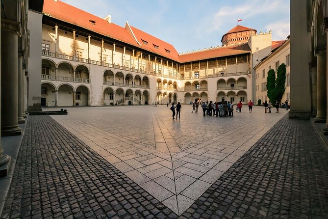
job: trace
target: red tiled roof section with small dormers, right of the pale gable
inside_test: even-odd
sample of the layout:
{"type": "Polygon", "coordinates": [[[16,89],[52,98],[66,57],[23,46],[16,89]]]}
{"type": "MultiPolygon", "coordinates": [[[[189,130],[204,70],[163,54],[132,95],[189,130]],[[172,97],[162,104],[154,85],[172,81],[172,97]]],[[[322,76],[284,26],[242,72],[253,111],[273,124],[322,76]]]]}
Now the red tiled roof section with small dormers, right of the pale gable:
{"type": "Polygon", "coordinates": [[[173,59],[175,61],[179,61],[179,55],[177,53],[177,50],[172,46],[171,44],[164,42],[163,40],[160,40],[136,27],[130,26],[135,37],[141,43],[141,48],[151,51],[155,54],[162,55],[164,57],[168,57],[170,59],[173,59]],[[144,44],[143,41],[146,41],[148,44],[144,44]],[[155,46],[158,46],[158,49],[156,49],[155,46]],[[166,51],[169,51],[166,52],[166,51]]]}

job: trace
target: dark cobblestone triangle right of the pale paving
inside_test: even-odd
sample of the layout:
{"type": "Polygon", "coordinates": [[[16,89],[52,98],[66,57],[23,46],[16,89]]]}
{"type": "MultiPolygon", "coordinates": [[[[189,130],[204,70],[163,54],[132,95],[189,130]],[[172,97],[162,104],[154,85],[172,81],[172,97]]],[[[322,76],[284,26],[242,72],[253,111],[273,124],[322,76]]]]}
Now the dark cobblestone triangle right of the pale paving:
{"type": "Polygon", "coordinates": [[[328,147],[284,116],[181,218],[328,218],[328,147]]]}

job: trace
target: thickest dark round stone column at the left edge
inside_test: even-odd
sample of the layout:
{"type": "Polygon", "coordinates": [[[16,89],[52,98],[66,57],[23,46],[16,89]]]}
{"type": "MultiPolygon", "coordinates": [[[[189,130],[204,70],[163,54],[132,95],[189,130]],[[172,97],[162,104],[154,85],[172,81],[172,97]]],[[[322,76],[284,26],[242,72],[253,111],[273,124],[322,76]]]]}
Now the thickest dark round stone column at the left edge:
{"type": "Polygon", "coordinates": [[[18,35],[20,23],[1,19],[1,133],[21,135],[18,126],[18,35]],[[5,83],[3,83],[5,82],[5,83]]]}

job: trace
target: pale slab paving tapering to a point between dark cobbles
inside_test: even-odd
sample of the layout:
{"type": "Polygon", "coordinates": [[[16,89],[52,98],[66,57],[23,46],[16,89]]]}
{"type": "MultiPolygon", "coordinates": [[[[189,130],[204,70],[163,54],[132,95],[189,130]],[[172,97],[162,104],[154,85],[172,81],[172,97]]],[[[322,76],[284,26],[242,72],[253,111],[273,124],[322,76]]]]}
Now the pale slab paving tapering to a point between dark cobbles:
{"type": "Polygon", "coordinates": [[[181,215],[286,113],[256,107],[220,118],[188,109],[178,120],[166,106],[78,108],[52,117],[181,215]]]}

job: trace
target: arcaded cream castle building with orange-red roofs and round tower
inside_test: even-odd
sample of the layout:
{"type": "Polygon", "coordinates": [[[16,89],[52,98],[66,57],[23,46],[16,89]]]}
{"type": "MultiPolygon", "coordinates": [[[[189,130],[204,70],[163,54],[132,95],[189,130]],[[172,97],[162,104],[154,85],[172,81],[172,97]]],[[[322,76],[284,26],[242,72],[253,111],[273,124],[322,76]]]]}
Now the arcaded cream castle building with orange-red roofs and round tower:
{"type": "Polygon", "coordinates": [[[178,54],[164,42],[111,16],[100,18],[45,0],[39,79],[29,107],[147,105],[254,99],[253,67],[272,50],[272,34],[236,26],[223,46],[178,54]]]}

